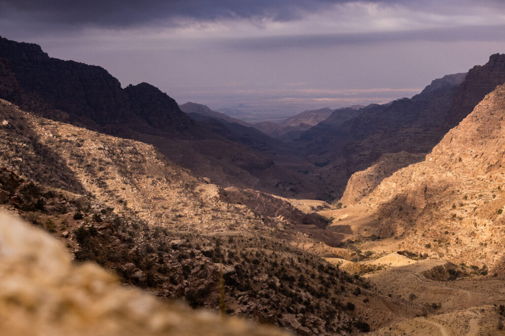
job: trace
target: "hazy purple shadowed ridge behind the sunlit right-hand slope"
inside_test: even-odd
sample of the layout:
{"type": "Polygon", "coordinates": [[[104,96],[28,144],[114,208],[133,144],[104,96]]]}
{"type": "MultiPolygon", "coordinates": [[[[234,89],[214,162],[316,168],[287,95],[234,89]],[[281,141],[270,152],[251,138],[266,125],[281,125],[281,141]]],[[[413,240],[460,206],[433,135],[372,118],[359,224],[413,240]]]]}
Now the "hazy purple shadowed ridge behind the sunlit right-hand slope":
{"type": "Polygon", "coordinates": [[[447,75],[411,99],[369,105],[344,122],[325,120],[292,144],[307,148],[306,155],[322,167],[314,174],[332,181],[332,194],[340,197],[350,175],[368,168],[381,155],[430,151],[444,134],[443,120],[465,76],[447,75]]]}

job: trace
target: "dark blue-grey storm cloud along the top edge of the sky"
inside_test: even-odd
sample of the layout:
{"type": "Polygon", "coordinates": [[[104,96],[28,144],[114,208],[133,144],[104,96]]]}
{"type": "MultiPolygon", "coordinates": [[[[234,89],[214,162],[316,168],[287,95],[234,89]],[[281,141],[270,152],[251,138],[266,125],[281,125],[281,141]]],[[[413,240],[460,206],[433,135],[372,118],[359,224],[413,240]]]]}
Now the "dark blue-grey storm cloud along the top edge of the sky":
{"type": "MultiPolygon", "coordinates": [[[[262,18],[287,21],[348,0],[0,0],[0,19],[13,16],[52,25],[123,27],[185,18],[262,18]]],[[[391,2],[391,1],[390,1],[391,2]]]]}

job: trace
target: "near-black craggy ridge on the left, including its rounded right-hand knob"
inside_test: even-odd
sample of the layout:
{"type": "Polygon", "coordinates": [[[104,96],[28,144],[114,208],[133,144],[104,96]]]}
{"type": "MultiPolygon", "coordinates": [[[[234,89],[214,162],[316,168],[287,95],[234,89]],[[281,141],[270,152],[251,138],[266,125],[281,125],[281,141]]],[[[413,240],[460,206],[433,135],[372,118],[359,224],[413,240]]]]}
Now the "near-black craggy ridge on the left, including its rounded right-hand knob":
{"type": "Polygon", "coordinates": [[[194,126],[172,98],[149,84],[123,90],[99,66],[51,58],[38,45],[5,38],[0,38],[0,56],[8,60],[19,89],[65,111],[72,121],[98,128],[107,123],[144,125],[165,132],[194,126]]]}

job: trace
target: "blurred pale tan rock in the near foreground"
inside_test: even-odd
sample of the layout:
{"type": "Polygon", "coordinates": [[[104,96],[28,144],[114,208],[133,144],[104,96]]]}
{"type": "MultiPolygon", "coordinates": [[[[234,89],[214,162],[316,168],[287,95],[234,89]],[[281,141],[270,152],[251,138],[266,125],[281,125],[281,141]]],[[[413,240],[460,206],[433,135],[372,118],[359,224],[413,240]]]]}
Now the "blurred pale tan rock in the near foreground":
{"type": "Polygon", "coordinates": [[[0,330],[3,335],[287,334],[122,287],[97,265],[73,264],[48,234],[2,213],[0,330]]]}

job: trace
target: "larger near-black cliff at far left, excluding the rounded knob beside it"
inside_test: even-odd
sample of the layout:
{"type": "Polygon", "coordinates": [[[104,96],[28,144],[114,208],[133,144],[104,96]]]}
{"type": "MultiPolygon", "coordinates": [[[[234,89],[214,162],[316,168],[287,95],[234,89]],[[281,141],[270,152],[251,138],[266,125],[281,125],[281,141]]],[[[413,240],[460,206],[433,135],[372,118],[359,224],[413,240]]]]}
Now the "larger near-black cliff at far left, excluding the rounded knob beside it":
{"type": "Polygon", "coordinates": [[[49,57],[36,44],[0,38],[0,56],[8,59],[19,85],[72,119],[96,123],[133,117],[119,81],[99,66],[49,57]]]}

